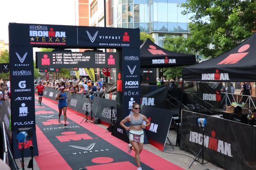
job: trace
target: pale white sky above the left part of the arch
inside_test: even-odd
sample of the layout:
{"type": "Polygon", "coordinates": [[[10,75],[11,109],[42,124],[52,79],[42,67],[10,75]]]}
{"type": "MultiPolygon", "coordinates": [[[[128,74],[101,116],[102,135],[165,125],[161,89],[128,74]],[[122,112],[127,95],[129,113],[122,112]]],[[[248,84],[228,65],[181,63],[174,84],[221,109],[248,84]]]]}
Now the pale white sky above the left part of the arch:
{"type": "Polygon", "coordinates": [[[9,22],[75,25],[76,0],[1,0],[0,40],[9,43],[9,22]]]}

